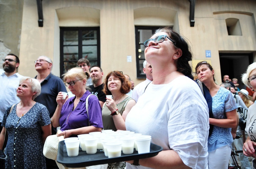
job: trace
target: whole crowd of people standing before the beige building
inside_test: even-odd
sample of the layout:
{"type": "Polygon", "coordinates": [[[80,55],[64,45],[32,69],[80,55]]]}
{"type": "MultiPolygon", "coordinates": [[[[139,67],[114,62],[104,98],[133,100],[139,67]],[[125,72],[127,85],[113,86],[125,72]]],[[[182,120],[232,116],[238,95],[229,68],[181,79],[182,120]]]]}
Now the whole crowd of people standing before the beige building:
{"type": "Polygon", "coordinates": [[[120,71],[109,72],[103,80],[103,70],[85,58],[61,79],[51,73],[52,60],[40,56],[37,76],[24,77],[17,73],[18,57],[8,54],[0,70],[0,150],[5,148],[7,155],[0,168],[58,169],[42,152],[46,137],[56,134],[57,127],[57,136],[64,138],[128,130],[150,135],[163,148],[154,157],[122,162],[127,169],[227,169],[234,165],[230,155],[235,148],[243,150],[241,167],[252,168],[248,157],[256,157],[256,113],[255,96],[248,89],[256,90],[256,63],[242,76],[245,90],[228,75],[217,85],[207,61],[196,65],[195,79],[190,46],[170,27],[156,30],[144,48],[146,80],[137,85],[120,71]],[[66,87],[70,91],[65,97],[66,87]],[[245,128],[240,126],[241,109],[248,110],[245,128]]]}

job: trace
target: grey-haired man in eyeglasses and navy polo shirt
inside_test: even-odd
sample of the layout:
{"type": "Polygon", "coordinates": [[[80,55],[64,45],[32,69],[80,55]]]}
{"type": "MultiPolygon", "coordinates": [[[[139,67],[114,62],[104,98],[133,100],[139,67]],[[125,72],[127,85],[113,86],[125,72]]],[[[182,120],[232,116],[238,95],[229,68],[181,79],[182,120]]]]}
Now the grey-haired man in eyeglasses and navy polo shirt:
{"type": "MultiPolygon", "coordinates": [[[[38,72],[35,79],[41,83],[41,93],[34,101],[43,104],[48,109],[50,118],[52,118],[57,107],[56,98],[58,93],[67,92],[67,89],[61,78],[51,73],[53,62],[50,58],[40,56],[34,63],[35,70],[38,72]]],[[[52,135],[56,132],[56,128],[52,127],[52,135]]],[[[46,168],[58,169],[58,166],[54,160],[46,158],[46,168]]]]}

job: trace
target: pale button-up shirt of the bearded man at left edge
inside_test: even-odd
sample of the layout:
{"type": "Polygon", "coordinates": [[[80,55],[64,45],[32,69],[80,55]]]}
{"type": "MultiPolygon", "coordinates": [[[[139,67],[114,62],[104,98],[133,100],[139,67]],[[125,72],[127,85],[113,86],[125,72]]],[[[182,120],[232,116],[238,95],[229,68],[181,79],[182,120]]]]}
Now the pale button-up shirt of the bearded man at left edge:
{"type": "Polygon", "coordinates": [[[17,88],[19,86],[19,80],[23,76],[19,73],[15,73],[11,76],[6,76],[4,71],[0,74],[0,123],[2,123],[3,115],[6,108],[9,105],[18,103],[20,100],[17,97],[17,88]]]}

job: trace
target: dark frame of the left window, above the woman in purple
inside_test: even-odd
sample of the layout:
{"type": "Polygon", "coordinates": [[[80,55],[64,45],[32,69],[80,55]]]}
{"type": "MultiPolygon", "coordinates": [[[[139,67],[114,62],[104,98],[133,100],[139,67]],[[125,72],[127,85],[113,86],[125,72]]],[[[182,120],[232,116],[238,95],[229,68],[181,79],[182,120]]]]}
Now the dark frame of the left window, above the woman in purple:
{"type": "MultiPolygon", "coordinates": [[[[95,30],[97,31],[97,60],[89,60],[89,62],[97,61],[97,66],[100,67],[100,27],[60,27],[60,76],[64,73],[64,62],[74,62],[77,60],[69,60],[64,61],[64,46],[78,46],[78,59],[81,59],[83,56],[83,46],[89,46],[88,44],[83,45],[83,38],[82,38],[82,31],[84,30],[95,30]],[[78,44],[77,45],[64,45],[64,31],[78,31],[78,44]]],[[[93,44],[90,44],[90,46],[93,46],[93,44]]],[[[92,65],[90,65],[92,66],[92,65]]]]}

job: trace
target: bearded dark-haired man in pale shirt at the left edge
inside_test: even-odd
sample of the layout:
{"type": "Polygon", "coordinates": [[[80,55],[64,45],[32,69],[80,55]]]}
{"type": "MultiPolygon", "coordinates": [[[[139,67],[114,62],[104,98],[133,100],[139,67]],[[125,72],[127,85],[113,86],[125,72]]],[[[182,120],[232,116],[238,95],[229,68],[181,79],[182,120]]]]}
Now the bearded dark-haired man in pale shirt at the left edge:
{"type": "MultiPolygon", "coordinates": [[[[8,54],[3,59],[3,71],[0,73],[0,131],[2,131],[2,120],[6,108],[9,105],[16,104],[20,99],[16,96],[19,86],[19,79],[23,76],[17,73],[19,67],[19,58],[14,54],[8,54]]],[[[7,141],[7,140],[6,140],[7,141]]],[[[4,144],[5,147],[6,144],[4,144]]],[[[4,148],[3,147],[3,148],[4,148]]],[[[4,160],[0,161],[0,168],[3,168],[4,160]]]]}

